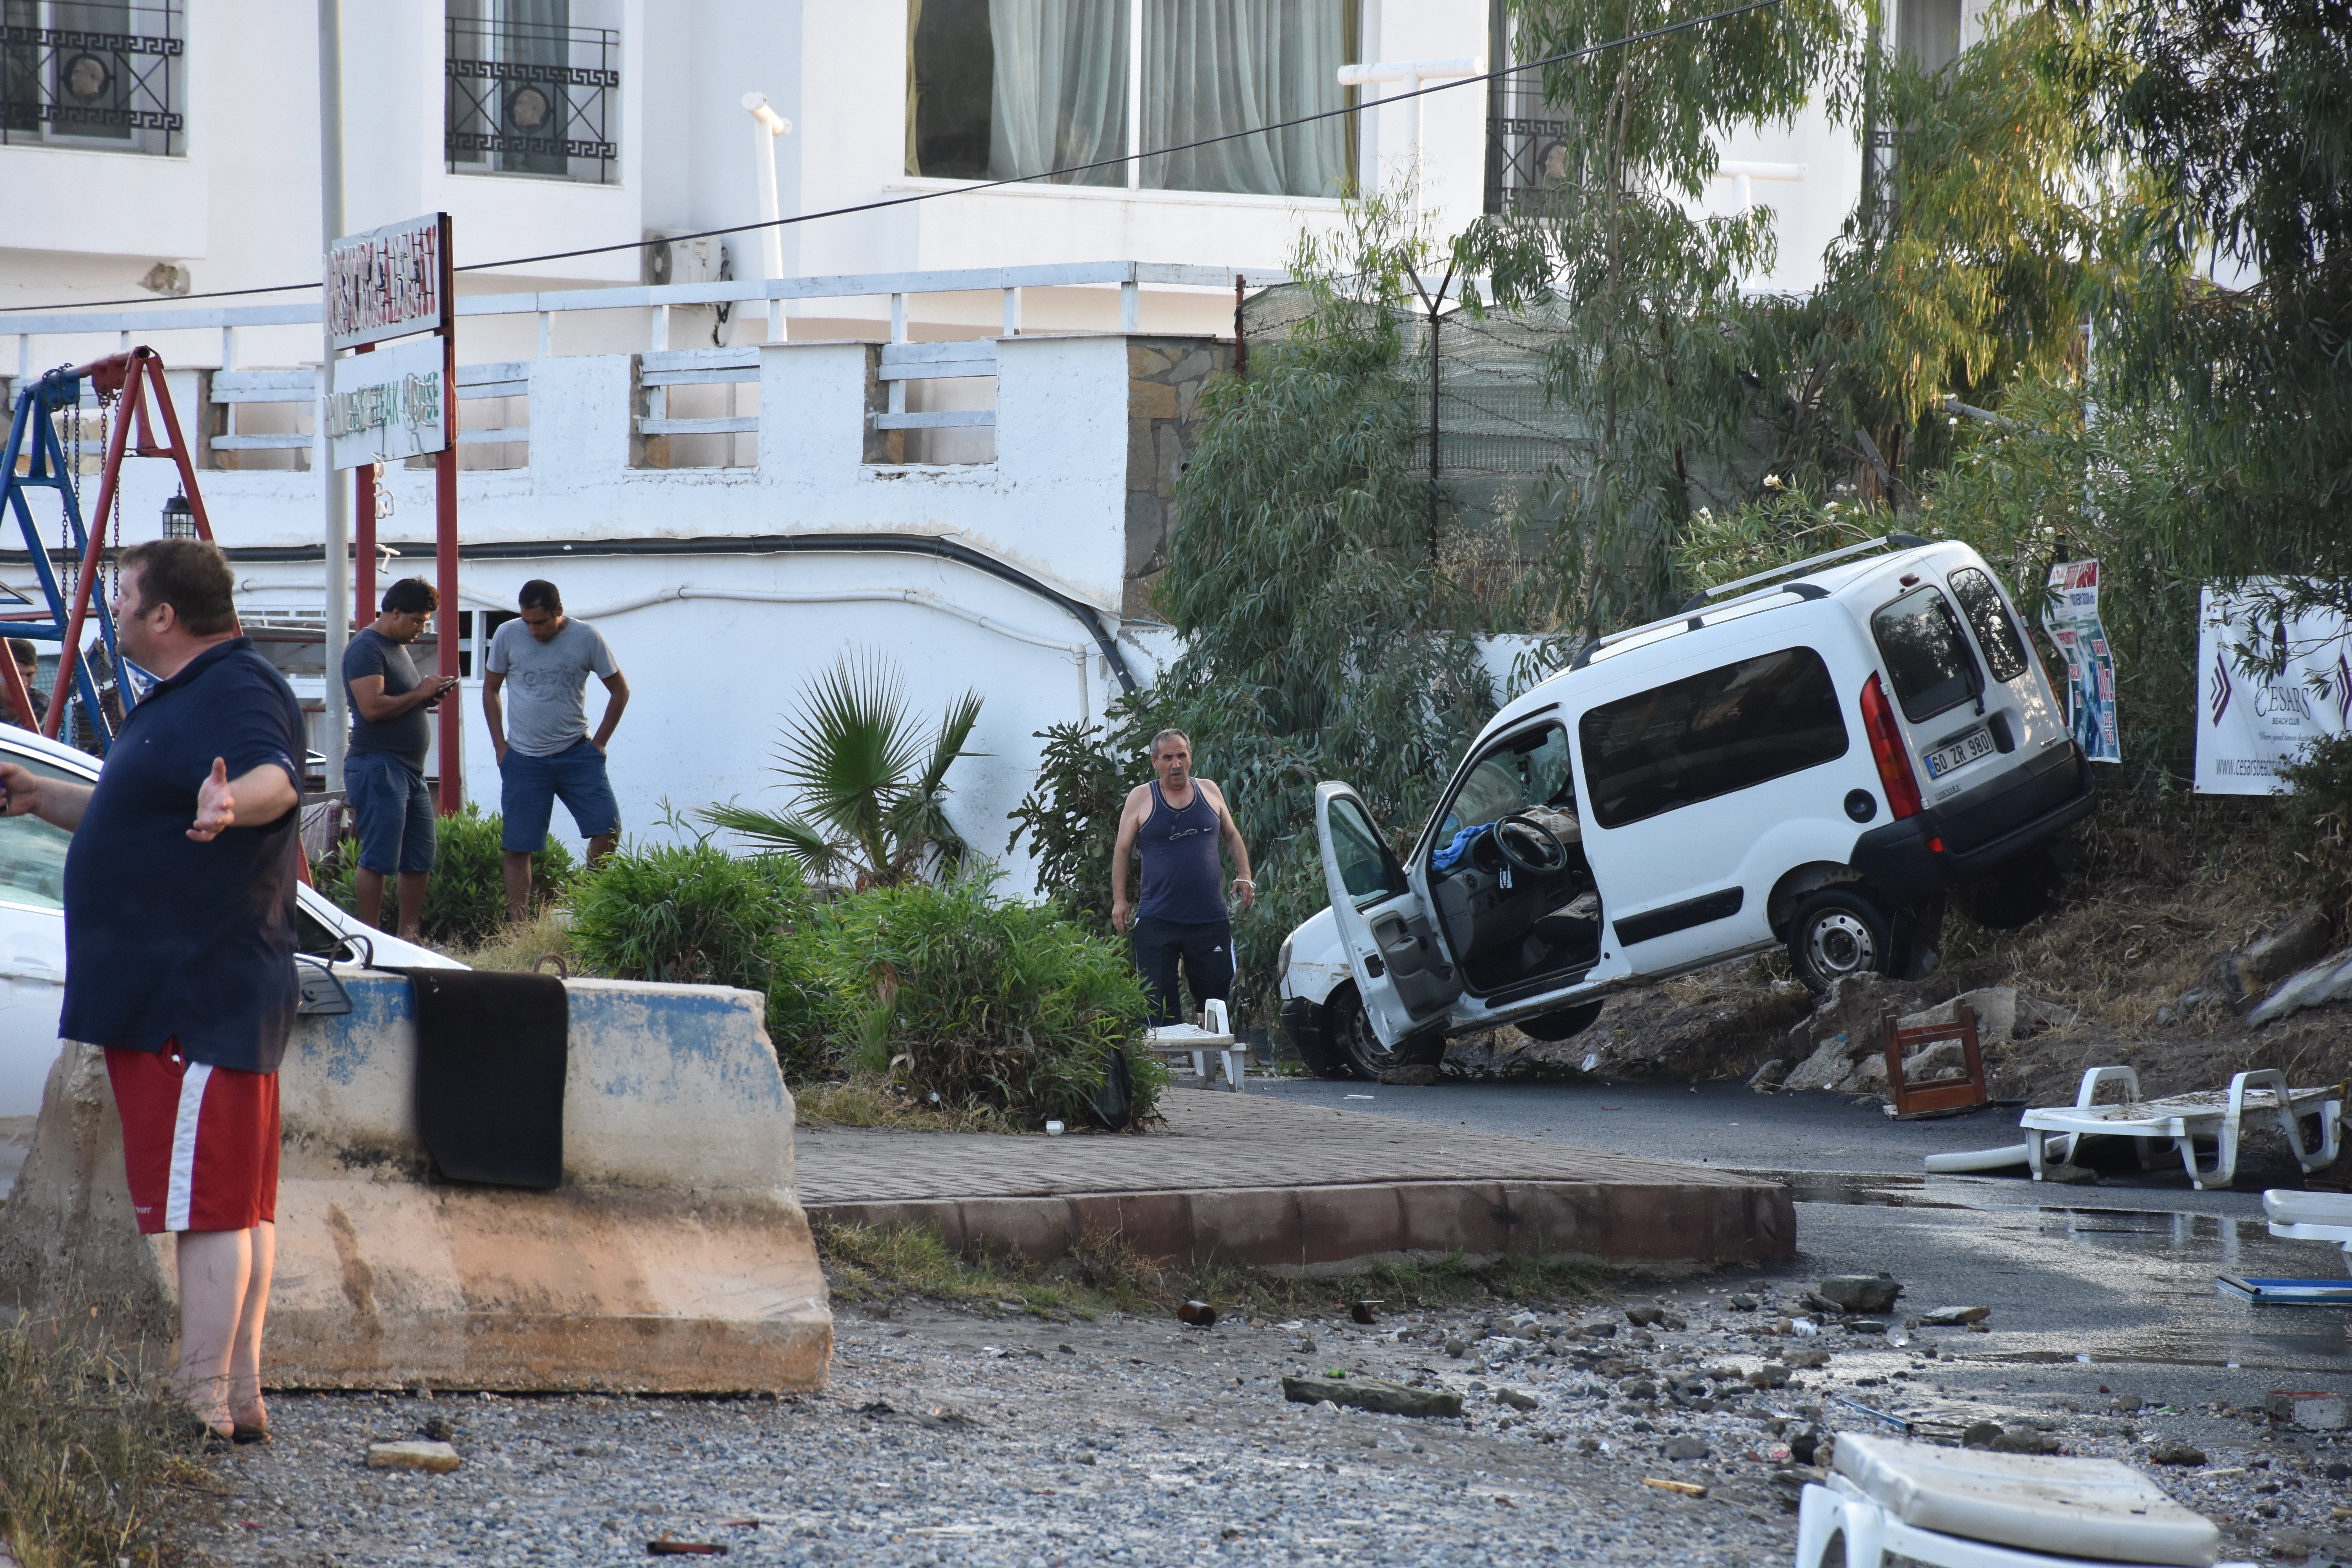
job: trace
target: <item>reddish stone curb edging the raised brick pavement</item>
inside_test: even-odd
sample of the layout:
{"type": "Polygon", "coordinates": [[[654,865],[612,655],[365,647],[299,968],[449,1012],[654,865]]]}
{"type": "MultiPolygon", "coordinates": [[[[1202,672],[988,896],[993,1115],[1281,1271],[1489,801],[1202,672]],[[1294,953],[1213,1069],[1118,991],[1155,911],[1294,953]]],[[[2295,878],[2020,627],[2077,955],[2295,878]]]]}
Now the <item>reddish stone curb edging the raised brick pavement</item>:
{"type": "Polygon", "coordinates": [[[1463,1253],[1472,1262],[1717,1267],[1797,1251],[1778,1182],[1414,1180],[1197,1192],[811,1204],[809,1220],[929,1227],[957,1253],[1051,1262],[1087,1234],[1117,1234],[1169,1265],[1240,1262],[1275,1274],[1350,1274],[1374,1262],[1463,1253]]]}

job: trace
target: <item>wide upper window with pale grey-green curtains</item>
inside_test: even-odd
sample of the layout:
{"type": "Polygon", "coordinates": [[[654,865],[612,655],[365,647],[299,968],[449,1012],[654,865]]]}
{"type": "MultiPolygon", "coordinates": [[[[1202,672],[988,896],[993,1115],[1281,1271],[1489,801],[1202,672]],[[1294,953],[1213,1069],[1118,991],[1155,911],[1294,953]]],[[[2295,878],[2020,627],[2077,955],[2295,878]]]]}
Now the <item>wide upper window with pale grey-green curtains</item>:
{"type": "MultiPolygon", "coordinates": [[[[1075,169],[1141,146],[1178,146],[1343,108],[1338,68],[1359,54],[1357,0],[1143,0],[1131,75],[1131,0],[910,0],[906,172],[1009,179],[1075,169]]],[[[1152,190],[1343,195],[1352,118],[1143,160],[1152,190]]],[[[1120,162],[1056,176],[1127,186],[1120,162]]]]}

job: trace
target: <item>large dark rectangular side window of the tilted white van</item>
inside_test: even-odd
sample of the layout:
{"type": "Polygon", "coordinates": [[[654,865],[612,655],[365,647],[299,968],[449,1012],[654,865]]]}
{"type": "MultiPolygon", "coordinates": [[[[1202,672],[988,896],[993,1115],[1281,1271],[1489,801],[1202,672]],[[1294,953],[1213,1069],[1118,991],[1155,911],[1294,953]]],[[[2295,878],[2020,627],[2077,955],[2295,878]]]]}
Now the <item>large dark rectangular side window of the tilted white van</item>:
{"type": "Polygon", "coordinates": [[[1846,755],[1846,715],[1813,649],[1689,675],[1578,722],[1592,820],[1623,827],[1846,755]]]}

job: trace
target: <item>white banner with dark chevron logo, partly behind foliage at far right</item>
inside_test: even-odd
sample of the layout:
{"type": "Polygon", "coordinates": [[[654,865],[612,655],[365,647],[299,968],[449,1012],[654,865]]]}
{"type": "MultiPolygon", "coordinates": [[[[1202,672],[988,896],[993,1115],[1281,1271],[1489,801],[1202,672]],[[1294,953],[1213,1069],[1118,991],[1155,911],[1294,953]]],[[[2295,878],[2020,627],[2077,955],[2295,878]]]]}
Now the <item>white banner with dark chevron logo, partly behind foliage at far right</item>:
{"type": "Polygon", "coordinates": [[[2199,792],[2277,795],[2281,764],[2352,729],[2347,630],[2331,611],[2281,616],[2260,578],[2197,595],[2199,792]]]}

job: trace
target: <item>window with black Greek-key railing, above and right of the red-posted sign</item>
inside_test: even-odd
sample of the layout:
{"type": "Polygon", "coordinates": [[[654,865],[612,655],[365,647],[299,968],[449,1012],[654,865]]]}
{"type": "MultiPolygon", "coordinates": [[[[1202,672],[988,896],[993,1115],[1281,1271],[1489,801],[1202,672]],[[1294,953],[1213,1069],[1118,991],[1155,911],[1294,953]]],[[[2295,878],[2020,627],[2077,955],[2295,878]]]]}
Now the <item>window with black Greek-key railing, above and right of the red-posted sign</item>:
{"type": "Polygon", "coordinates": [[[452,174],[621,179],[621,33],[449,19],[442,153],[452,174]]]}

